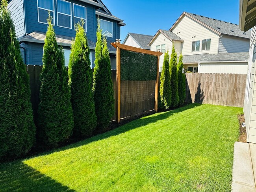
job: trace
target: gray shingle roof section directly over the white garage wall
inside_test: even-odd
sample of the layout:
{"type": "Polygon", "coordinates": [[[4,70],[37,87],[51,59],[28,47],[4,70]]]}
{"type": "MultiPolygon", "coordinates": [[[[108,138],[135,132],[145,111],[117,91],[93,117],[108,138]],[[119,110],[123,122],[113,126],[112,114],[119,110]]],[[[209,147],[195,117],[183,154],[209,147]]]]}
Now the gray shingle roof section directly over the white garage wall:
{"type": "Polygon", "coordinates": [[[226,53],[226,54],[204,54],[199,61],[247,61],[249,52],[226,53]]]}

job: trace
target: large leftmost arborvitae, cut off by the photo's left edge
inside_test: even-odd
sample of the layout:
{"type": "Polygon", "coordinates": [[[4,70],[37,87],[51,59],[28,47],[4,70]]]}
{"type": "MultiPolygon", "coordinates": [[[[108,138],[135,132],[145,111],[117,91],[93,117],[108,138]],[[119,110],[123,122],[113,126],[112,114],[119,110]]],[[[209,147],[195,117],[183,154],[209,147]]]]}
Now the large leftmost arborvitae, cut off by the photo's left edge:
{"type": "Polygon", "coordinates": [[[35,143],[29,76],[7,0],[0,3],[0,160],[26,154],[35,143]]]}

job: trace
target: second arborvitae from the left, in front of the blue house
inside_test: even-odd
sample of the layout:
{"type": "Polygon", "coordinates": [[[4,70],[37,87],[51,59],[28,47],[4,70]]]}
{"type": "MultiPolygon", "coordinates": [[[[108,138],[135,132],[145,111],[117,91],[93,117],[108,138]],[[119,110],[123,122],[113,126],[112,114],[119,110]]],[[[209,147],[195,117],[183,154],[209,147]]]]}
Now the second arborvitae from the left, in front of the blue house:
{"type": "Polygon", "coordinates": [[[40,76],[39,131],[45,144],[58,146],[59,142],[72,135],[74,118],[64,53],[58,48],[50,15],[47,21],[43,70],[40,76]]]}

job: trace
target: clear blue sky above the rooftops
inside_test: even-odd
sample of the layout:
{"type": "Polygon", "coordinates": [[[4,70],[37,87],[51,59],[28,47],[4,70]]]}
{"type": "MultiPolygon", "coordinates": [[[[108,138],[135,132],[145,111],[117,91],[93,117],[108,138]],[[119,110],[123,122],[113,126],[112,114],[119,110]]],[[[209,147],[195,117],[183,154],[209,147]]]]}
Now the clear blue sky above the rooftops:
{"type": "MultiPolygon", "coordinates": [[[[128,32],[155,35],[169,30],[183,11],[239,24],[239,0],[102,0],[121,18],[121,40],[128,32]]],[[[121,42],[122,42],[121,41],[121,42]]]]}

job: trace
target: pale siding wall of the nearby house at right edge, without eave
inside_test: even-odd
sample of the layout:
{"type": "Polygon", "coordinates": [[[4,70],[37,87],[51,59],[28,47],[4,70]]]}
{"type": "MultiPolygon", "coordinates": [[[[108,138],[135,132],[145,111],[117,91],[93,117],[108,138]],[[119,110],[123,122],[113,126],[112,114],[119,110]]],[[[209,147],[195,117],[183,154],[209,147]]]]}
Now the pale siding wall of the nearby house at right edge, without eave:
{"type": "MultiPolygon", "coordinates": [[[[256,40],[256,27],[252,29],[252,35],[250,40],[250,53],[249,55],[253,54],[254,50],[254,42],[256,40]]],[[[250,56],[249,56],[250,58],[250,56]]],[[[251,58],[250,58],[251,59],[251,58]]],[[[250,62],[250,60],[249,60],[250,62]]],[[[247,66],[247,79],[249,71],[249,65],[247,66]]],[[[256,143],[256,82],[255,82],[255,61],[252,63],[251,66],[251,78],[248,81],[250,84],[246,85],[249,86],[249,99],[247,101],[246,93],[245,93],[245,102],[243,112],[245,114],[245,123],[246,123],[246,132],[247,132],[247,142],[256,143]]],[[[247,81],[246,81],[247,82],[247,81]]]]}

